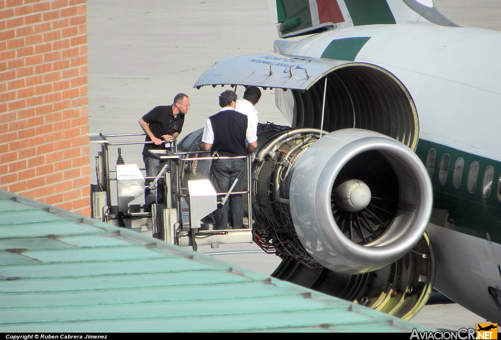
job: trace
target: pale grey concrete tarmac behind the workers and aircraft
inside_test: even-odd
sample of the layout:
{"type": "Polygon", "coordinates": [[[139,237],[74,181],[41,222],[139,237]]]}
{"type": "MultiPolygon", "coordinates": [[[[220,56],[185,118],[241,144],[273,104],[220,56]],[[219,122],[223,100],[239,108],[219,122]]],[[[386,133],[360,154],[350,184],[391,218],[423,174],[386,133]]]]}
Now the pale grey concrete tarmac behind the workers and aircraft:
{"type": "MultiPolygon", "coordinates": [[[[501,31],[499,0],[434,3],[458,25],[501,31]]],[[[170,105],[178,92],[186,93],[191,104],[180,138],[202,128],[219,111],[217,96],[229,87],[193,89],[198,77],[221,57],[272,52],[278,38],[265,0],[87,0],[87,21],[90,131],[103,134],[142,132],[139,118],[157,105],[170,105]]],[[[257,109],[260,122],[289,124],[275,106],[273,91],[263,92],[257,109]]],[[[97,151],[93,145],[91,164],[97,151]]],[[[140,153],[138,146],[122,148],[126,163],[141,165],[140,153]]],[[[116,151],[110,155],[116,157],[116,151]]],[[[280,259],[256,250],[256,244],[199,247],[220,253],[212,255],[219,259],[273,272],[280,259]],[[242,250],[249,252],[234,253],[242,250]]],[[[484,320],[454,303],[427,305],[412,321],[457,330],[484,320]]]]}

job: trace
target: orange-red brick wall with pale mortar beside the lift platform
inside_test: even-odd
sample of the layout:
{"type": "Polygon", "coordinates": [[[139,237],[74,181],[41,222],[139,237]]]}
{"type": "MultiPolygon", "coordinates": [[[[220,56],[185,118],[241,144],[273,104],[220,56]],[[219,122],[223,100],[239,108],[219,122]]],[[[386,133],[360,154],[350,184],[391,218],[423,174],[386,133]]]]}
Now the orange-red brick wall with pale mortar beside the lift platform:
{"type": "Polygon", "coordinates": [[[0,189],[90,215],[86,0],[0,0],[0,189]]]}

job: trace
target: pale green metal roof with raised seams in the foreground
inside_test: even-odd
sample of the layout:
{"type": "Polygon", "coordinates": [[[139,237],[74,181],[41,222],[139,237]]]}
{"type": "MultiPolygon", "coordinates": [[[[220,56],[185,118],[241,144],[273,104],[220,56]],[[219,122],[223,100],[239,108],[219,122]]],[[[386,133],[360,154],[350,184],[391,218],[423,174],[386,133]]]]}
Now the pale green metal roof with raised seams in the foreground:
{"type": "Polygon", "coordinates": [[[423,327],[0,190],[3,332],[423,327]]]}

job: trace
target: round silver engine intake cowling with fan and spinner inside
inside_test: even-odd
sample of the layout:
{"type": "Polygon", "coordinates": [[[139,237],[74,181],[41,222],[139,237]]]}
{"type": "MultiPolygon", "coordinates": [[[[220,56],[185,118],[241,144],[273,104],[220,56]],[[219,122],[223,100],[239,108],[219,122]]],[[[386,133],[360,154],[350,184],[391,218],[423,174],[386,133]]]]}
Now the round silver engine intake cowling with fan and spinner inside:
{"type": "Polygon", "coordinates": [[[340,273],[395,262],[420,240],[431,213],[431,183],[419,158],[369,130],[322,137],[294,163],[289,178],[290,213],[302,245],[340,273]]]}

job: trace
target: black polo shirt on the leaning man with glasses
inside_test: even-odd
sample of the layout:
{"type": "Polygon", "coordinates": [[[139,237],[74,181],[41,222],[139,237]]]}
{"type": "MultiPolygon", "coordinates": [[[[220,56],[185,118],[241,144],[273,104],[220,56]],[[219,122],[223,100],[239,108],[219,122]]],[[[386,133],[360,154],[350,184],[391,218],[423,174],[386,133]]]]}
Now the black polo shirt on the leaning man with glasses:
{"type": "MultiPolygon", "coordinates": [[[[153,136],[163,140],[163,135],[172,135],[174,133],[181,133],[184,124],[184,115],[178,114],[174,118],[172,107],[156,106],[150,112],[143,116],[143,120],[148,123],[148,126],[153,133],[153,136]]],[[[151,142],[151,139],[146,136],[146,142],[151,142]]],[[[165,149],[165,143],[161,145],[145,144],[143,148],[143,156],[150,156],[148,150],[150,149],[165,149]]]]}

